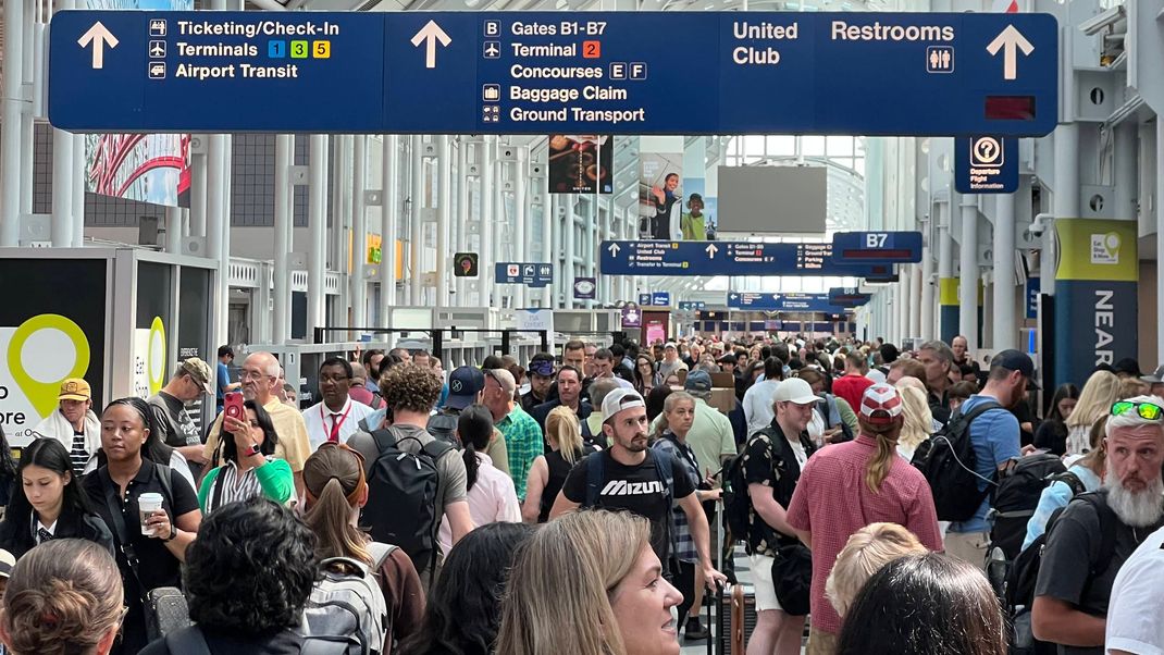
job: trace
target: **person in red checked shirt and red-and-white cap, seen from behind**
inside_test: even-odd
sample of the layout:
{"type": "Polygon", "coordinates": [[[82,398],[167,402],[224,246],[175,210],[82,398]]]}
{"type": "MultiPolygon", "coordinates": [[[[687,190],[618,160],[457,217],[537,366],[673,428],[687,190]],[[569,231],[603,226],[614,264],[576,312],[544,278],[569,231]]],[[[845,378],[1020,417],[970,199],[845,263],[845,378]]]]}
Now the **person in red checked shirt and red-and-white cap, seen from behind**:
{"type": "Polygon", "coordinates": [[[899,524],[927,548],[942,549],[930,486],[897,455],[903,410],[896,389],[866,389],[857,412],[860,434],[810,457],[788,505],[788,525],[812,549],[809,655],[837,650],[843,621],[824,597],[824,583],[853,533],[870,524],[899,524]]]}

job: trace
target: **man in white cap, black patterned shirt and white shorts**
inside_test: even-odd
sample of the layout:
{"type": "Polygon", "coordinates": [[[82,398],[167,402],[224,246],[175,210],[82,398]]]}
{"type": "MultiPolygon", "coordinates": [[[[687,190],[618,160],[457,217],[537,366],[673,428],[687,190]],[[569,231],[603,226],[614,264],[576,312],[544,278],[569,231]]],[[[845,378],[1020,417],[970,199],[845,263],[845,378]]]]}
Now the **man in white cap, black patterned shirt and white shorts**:
{"type": "Polygon", "coordinates": [[[776,597],[772,567],[781,547],[799,543],[788,525],[786,507],[792,501],[801,468],[815,447],[808,436],[812,407],[819,400],[801,378],[788,378],[773,394],[775,418],[752,435],[743,454],[744,479],[751,499],[746,550],[755,576],[755,629],[748,653],[799,655],[804,632],[803,611],[785,610],[776,597]]]}

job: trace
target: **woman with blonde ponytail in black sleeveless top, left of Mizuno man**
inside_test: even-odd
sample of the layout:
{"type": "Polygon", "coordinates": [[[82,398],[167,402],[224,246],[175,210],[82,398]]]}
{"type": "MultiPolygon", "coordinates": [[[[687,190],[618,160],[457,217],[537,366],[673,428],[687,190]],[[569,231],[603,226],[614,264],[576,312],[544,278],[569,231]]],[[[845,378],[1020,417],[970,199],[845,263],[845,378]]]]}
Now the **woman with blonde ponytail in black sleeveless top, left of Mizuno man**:
{"type": "Polygon", "coordinates": [[[549,411],[546,417],[546,442],[549,443],[549,453],[533,460],[525,483],[521,520],[527,524],[549,520],[549,508],[554,506],[558,492],[566,484],[566,476],[574,464],[592,451],[582,441],[582,426],[569,407],[554,407],[549,411]]]}

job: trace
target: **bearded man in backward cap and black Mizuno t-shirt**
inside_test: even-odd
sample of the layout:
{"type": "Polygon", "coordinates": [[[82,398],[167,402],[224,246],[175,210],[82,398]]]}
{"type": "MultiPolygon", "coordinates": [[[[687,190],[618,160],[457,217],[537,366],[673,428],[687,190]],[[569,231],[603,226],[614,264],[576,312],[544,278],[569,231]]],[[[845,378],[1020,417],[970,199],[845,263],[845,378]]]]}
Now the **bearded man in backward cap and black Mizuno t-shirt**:
{"type": "Polygon", "coordinates": [[[715,588],[717,583],[726,581],[711,564],[708,519],[682,464],[675,457],[656,462],[655,457],[660,455],[647,448],[648,421],[643,397],[629,389],[616,389],[603,399],[602,415],[602,432],[610,437],[610,448],[589,455],[574,465],[554,501],[549,518],[583,505],[634,512],[651,521],[651,547],[666,565],[670,554],[672,531],[668,498],[674,498],[687,515],[691,537],[700,554],[700,570],[703,571],[704,582],[715,588]],[[591,463],[592,457],[599,457],[602,462],[602,475],[597,478],[590,470],[590,467],[596,465],[591,463]],[[670,478],[670,493],[667,490],[667,477],[670,478]]]}

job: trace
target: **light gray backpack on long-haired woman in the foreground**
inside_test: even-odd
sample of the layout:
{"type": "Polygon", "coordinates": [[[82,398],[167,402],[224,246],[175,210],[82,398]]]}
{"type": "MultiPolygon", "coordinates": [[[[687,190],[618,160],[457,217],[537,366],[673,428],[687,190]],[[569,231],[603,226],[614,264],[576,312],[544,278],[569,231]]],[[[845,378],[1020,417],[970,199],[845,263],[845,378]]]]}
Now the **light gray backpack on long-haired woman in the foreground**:
{"type": "Polygon", "coordinates": [[[374,562],[370,569],[348,557],[320,562],[322,577],[304,607],[303,634],[307,641],[343,643],[343,650],[335,652],[345,655],[384,652],[388,604],[374,572],[396,547],[372,542],[368,549],[374,562]]]}

